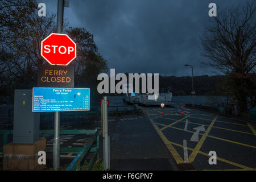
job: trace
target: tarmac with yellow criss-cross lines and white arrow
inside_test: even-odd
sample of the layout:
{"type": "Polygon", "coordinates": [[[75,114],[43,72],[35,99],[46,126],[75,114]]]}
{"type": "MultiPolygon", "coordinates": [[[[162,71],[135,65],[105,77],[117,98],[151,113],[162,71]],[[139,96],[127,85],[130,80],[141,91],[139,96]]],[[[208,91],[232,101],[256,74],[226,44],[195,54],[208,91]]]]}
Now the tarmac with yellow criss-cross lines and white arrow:
{"type": "MultiPolygon", "coordinates": [[[[255,170],[256,125],[204,111],[175,108],[144,108],[179,169],[255,170]],[[196,128],[198,140],[192,136],[196,128]],[[210,151],[216,164],[210,164],[210,151]]],[[[213,161],[213,159],[210,159],[213,161]]]]}

